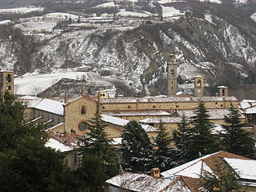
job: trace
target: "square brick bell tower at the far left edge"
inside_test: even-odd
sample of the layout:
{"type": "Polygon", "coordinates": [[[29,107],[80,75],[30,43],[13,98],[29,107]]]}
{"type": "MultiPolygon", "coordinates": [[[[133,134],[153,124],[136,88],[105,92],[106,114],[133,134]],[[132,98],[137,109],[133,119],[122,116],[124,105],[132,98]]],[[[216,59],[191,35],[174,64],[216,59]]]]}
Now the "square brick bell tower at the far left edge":
{"type": "Polygon", "coordinates": [[[4,94],[5,91],[14,94],[14,73],[10,70],[1,70],[0,71],[0,89],[1,94],[4,94]]]}

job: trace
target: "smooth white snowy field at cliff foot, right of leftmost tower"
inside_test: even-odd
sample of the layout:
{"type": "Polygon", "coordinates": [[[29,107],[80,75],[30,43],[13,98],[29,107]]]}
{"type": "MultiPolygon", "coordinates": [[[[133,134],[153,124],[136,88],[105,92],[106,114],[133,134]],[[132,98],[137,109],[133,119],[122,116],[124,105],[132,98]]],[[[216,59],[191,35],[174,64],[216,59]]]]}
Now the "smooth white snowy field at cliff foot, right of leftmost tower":
{"type": "Polygon", "coordinates": [[[15,94],[36,95],[56,84],[62,78],[70,78],[74,80],[85,79],[88,82],[105,82],[99,74],[92,72],[67,72],[58,74],[41,74],[31,75],[25,74],[15,79],[15,94]]]}

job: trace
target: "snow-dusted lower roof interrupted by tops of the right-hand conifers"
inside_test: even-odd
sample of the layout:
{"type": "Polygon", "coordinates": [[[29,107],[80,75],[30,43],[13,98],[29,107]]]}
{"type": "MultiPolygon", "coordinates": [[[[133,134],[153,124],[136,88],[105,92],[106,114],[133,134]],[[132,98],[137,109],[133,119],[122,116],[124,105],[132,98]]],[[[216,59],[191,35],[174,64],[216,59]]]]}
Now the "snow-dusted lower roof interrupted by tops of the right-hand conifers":
{"type": "MultiPolygon", "coordinates": [[[[228,108],[220,108],[220,109],[207,109],[209,119],[223,119],[225,116],[230,114],[230,110],[228,108]]],[[[195,116],[195,110],[178,110],[178,115],[182,117],[185,115],[186,118],[191,118],[195,116]]],[[[244,118],[244,115],[240,114],[240,118],[244,118]]]]}

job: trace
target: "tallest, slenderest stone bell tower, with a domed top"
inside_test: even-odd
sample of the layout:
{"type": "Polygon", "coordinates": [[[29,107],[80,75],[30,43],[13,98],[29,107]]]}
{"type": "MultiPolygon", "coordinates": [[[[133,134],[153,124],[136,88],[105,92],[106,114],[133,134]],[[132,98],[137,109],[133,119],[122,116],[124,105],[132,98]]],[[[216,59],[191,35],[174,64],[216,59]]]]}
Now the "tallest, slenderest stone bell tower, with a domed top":
{"type": "Polygon", "coordinates": [[[175,54],[168,60],[168,97],[176,96],[178,63],[175,54]]]}

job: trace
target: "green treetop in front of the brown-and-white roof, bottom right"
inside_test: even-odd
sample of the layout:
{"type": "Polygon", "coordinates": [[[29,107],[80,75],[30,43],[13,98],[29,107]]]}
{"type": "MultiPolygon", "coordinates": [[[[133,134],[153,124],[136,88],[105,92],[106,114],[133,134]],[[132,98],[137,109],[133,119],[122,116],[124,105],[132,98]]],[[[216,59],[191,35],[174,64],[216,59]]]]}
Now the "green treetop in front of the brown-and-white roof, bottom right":
{"type": "Polygon", "coordinates": [[[210,173],[208,171],[203,172],[202,177],[202,187],[203,191],[213,192],[213,191],[221,191],[221,192],[243,192],[238,183],[238,176],[234,170],[231,168],[227,168],[223,166],[223,163],[216,164],[215,173],[210,173]]]}

